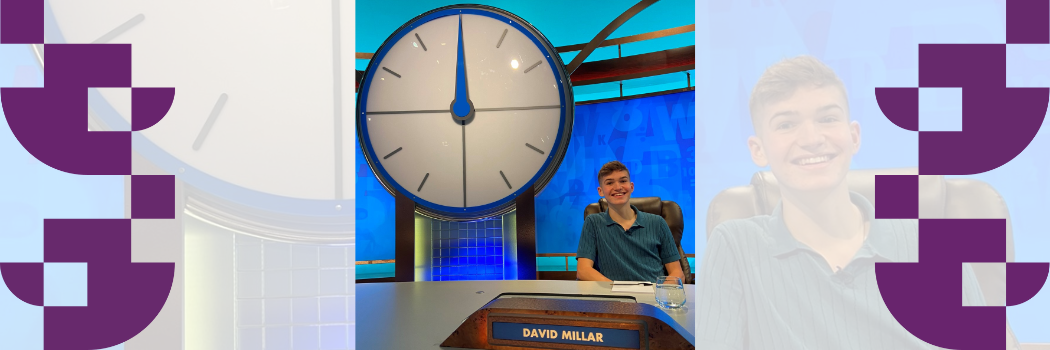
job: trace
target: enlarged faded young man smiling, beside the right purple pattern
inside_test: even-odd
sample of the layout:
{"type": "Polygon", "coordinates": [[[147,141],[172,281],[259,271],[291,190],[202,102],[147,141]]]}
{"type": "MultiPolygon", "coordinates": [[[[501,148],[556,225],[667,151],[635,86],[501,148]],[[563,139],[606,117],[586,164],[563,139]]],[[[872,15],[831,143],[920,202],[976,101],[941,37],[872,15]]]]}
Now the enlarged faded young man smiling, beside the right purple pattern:
{"type": "MultiPolygon", "coordinates": [[[[845,181],[861,145],[845,86],[816,58],[769,67],[750,101],[751,159],[781,202],[712,232],[697,275],[697,348],[936,349],[894,318],[877,262],[918,261],[915,220],[875,220],[845,181]]],[[[964,268],[964,305],[983,305],[964,268]]]]}

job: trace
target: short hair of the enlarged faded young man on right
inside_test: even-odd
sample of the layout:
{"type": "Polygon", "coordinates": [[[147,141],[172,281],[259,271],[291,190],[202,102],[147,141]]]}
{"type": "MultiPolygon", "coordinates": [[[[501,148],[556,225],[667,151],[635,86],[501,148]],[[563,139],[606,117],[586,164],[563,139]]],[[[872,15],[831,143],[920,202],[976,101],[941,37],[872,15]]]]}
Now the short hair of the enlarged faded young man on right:
{"type": "Polygon", "coordinates": [[[791,97],[796,89],[804,85],[838,87],[842,91],[842,97],[846,99],[845,107],[849,107],[846,86],[839,80],[835,70],[832,70],[826,64],[808,55],[784,59],[765,68],[765,73],[758,78],[755,88],[751,90],[748,107],[751,111],[751,124],[755,131],[758,131],[756,114],[758,109],[791,97]]]}

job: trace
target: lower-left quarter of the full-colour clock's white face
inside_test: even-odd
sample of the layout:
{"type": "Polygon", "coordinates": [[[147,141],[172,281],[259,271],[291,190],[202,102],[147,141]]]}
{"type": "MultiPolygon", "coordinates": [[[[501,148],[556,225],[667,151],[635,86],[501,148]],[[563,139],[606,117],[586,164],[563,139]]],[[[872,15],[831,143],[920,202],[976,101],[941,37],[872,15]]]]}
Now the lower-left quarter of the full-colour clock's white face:
{"type": "Polygon", "coordinates": [[[448,114],[370,116],[366,123],[376,158],[394,181],[428,202],[463,206],[463,128],[448,114]]]}

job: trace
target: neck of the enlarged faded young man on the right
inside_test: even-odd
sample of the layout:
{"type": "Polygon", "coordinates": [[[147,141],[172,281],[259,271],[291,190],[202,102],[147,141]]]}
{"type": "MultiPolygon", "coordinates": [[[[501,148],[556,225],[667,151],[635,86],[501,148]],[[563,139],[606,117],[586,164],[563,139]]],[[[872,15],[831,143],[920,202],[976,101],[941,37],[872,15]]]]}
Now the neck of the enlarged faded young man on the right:
{"type": "Polygon", "coordinates": [[[863,235],[864,217],[850,201],[845,183],[819,192],[784,188],[782,194],[784,223],[797,240],[811,245],[834,245],[863,235]]]}

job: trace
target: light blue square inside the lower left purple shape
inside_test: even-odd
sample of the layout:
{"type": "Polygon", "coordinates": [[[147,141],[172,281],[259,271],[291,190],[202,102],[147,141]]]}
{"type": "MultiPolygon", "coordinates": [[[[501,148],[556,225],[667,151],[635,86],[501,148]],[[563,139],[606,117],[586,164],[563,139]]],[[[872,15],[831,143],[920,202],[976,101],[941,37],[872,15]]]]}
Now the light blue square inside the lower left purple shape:
{"type": "Polygon", "coordinates": [[[87,306],[87,263],[44,263],[44,306],[87,306]]]}

